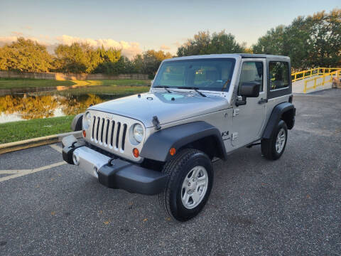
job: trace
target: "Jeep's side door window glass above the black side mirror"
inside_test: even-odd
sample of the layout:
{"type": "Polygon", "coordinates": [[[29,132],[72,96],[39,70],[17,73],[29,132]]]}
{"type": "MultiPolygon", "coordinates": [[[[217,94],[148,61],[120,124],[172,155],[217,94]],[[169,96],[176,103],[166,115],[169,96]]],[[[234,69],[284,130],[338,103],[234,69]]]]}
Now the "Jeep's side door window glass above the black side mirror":
{"type": "MultiPolygon", "coordinates": [[[[239,88],[243,82],[259,82],[259,92],[263,92],[263,63],[261,61],[243,63],[239,78],[239,88]]],[[[239,90],[238,95],[240,95],[239,90]]]]}

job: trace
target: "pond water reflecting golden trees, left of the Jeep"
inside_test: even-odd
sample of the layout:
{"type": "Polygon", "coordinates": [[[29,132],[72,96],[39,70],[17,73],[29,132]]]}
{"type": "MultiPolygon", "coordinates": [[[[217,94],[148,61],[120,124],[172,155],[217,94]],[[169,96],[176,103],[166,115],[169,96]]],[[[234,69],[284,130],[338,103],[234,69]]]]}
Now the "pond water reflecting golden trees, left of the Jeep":
{"type": "MultiPolygon", "coordinates": [[[[61,117],[84,112],[96,105],[137,92],[119,92],[97,87],[97,90],[64,90],[26,92],[0,96],[0,123],[46,117],[61,117]],[[102,90],[103,89],[103,90],[102,90]]],[[[142,89],[141,92],[146,91],[142,89]]]]}

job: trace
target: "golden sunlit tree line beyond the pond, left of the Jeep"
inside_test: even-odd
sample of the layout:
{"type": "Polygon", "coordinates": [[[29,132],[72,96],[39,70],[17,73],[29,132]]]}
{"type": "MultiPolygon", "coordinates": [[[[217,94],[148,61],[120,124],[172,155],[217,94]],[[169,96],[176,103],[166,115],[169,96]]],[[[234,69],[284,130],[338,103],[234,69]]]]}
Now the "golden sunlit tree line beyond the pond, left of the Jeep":
{"type": "Polygon", "coordinates": [[[87,43],[60,44],[55,54],[48,53],[45,46],[30,39],[18,38],[16,42],[0,48],[0,70],[19,72],[62,72],[153,75],[171,53],[163,50],[146,50],[131,60],[120,49],[92,48],[87,43]]]}

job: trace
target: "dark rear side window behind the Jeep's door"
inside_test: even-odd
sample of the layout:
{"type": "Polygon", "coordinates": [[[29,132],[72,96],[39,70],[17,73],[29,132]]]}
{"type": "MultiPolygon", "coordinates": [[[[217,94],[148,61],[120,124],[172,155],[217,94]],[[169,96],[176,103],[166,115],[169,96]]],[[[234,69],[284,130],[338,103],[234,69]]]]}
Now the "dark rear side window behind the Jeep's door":
{"type": "Polygon", "coordinates": [[[269,63],[270,90],[277,90],[289,86],[289,64],[283,61],[269,63]]]}

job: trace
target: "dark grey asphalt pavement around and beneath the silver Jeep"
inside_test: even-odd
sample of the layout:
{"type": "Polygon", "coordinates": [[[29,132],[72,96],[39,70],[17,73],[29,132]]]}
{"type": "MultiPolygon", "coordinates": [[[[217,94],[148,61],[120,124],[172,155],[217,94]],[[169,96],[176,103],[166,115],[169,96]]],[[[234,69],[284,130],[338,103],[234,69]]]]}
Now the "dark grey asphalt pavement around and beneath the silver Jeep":
{"type": "Polygon", "coordinates": [[[0,174],[0,255],[341,255],[341,90],[294,103],[281,159],[253,147],[216,162],[210,200],[188,223],[166,218],[156,196],[60,163],[59,145],[0,155],[14,170],[0,174]]]}

